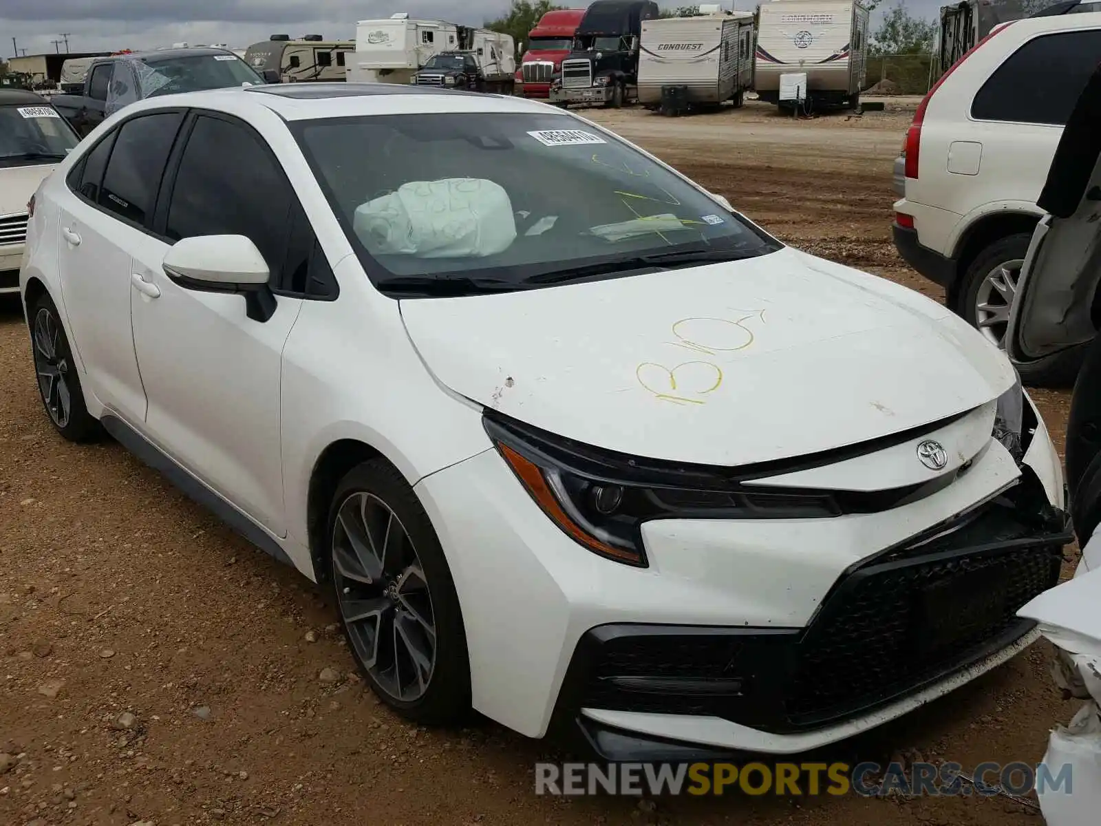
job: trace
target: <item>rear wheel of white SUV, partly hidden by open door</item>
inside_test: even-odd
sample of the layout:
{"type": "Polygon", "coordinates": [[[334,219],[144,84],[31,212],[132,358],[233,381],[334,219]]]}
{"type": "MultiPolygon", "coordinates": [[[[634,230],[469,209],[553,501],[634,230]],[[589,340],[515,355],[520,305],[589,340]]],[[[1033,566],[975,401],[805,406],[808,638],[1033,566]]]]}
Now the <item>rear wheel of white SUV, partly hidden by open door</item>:
{"type": "MultiPolygon", "coordinates": [[[[967,268],[952,309],[988,341],[1005,348],[1010,308],[1017,290],[1032,236],[1016,232],[988,244],[967,268]]],[[[1081,367],[1087,345],[1021,365],[1021,380],[1029,387],[1070,387],[1081,367]]]]}

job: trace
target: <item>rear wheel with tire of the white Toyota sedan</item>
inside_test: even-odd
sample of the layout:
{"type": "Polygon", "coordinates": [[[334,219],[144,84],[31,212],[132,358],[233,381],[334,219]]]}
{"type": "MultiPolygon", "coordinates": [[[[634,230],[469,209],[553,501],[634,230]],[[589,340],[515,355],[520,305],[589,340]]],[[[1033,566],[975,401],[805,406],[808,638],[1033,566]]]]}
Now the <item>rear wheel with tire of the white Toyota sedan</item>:
{"type": "Polygon", "coordinates": [[[92,442],[101,433],[88,413],[73,349],[57,307],[43,293],[31,305],[31,349],[39,398],[54,428],[69,442],[92,442]]]}

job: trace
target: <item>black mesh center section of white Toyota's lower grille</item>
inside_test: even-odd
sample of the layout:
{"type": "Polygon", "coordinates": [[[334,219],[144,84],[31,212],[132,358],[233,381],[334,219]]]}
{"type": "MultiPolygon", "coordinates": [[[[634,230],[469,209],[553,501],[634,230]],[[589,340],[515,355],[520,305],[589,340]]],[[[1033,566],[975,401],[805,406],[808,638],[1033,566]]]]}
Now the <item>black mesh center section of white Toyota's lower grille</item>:
{"type": "Polygon", "coordinates": [[[1016,616],[1059,578],[1061,546],[885,563],[833,595],[803,643],[788,722],[814,726],[908,693],[1027,632],[1016,616]]]}

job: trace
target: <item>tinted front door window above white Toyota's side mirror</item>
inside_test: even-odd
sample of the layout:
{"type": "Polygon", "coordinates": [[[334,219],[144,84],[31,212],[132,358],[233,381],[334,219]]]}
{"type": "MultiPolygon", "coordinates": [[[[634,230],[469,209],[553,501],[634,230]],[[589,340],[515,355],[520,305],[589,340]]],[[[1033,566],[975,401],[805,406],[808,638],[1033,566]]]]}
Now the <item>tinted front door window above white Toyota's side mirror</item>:
{"type": "Polygon", "coordinates": [[[292,203],[290,182],[259,138],[241,124],[199,118],[179,162],[165,232],[173,241],[246,236],[277,285],[292,203]]]}

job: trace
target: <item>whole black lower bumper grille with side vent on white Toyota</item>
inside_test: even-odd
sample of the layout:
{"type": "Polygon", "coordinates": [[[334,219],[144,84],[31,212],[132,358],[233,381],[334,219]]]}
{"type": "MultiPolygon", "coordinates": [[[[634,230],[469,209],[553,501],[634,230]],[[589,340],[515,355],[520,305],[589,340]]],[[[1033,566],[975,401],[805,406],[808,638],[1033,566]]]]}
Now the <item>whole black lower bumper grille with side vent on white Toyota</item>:
{"type": "Polygon", "coordinates": [[[1027,633],[1016,611],[1058,582],[1065,514],[1031,512],[1024,487],[842,575],[805,629],[595,628],[559,704],[784,733],[920,691],[1027,633]]]}

